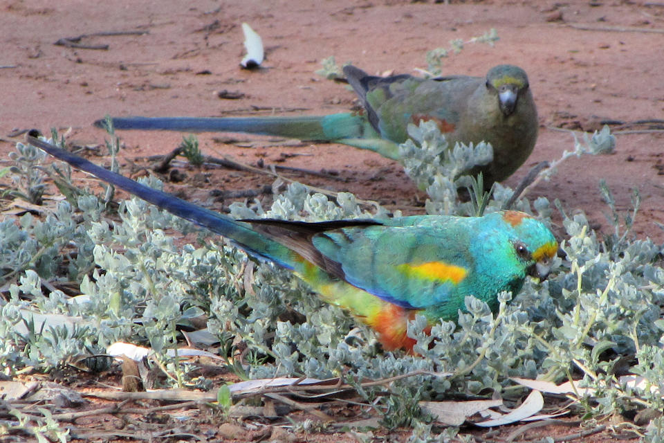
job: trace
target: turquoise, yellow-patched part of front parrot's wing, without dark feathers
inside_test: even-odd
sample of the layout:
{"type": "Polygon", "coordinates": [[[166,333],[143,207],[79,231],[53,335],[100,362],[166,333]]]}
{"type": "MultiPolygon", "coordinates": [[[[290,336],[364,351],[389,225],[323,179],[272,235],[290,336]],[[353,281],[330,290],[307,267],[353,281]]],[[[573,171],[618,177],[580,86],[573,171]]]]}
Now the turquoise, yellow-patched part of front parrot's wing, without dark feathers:
{"type": "Polygon", "coordinates": [[[468,235],[454,228],[349,227],[314,235],[312,244],[353,286],[422,309],[450,301],[472,273],[468,235]]]}

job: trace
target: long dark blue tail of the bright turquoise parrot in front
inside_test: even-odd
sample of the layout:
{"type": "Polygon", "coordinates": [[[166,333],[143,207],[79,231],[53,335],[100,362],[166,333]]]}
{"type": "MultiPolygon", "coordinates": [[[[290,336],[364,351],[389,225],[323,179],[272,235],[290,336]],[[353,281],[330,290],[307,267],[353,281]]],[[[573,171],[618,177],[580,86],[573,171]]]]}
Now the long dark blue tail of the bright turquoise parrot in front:
{"type": "Polygon", "coordinates": [[[288,269],[294,269],[295,263],[301,260],[296,253],[286,248],[286,246],[257,233],[246,223],[234,220],[223,214],[215,213],[212,210],[201,208],[188,201],[169,195],[166,192],[149,188],[137,181],[127,179],[127,177],[116,174],[116,172],[101,168],[80,156],[62,150],[55,145],[46,143],[33,136],[26,136],[26,141],[30,145],[48,152],[48,154],[54,156],[56,159],[69,163],[74,168],[89,172],[98,177],[98,179],[111,183],[113,186],[136,195],[159,208],[167,210],[173,215],[192,221],[194,224],[208,228],[212,232],[223,235],[223,237],[228,239],[232,239],[240,248],[251,255],[270,260],[288,269]]]}

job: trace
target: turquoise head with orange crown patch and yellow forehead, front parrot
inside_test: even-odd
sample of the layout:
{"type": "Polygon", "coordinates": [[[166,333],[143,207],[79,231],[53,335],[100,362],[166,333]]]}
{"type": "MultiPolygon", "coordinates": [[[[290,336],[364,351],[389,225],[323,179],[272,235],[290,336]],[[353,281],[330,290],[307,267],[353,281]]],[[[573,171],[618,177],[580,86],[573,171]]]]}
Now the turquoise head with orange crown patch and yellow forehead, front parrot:
{"type": "Polygon", "coordinates": [[[519,211],[502,213],[503,221],[513,229],[513,247],[526,272],[544,280],[558,251],[558,243],[542,221],[519,211]]]}

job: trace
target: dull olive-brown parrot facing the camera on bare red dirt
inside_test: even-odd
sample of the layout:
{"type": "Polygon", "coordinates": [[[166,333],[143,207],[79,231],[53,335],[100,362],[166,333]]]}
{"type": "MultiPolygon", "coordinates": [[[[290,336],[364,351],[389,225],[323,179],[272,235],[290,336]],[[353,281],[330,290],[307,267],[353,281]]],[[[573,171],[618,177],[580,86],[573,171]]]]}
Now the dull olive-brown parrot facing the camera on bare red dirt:
{"type": "MultiPolygon", "coordinates": [[[[537,108],[528,76],[517,66],[501,64],[486,78],[453,75],[417,78],[367,75],[355,66],[344,74],[364,107],[360,113],[329,116],[196,118],[115,117],[116,129],[165,129],[183,132],[246,132],[331,141],[378,152],[399,161],[398,145],[408,138],[409,123],[433,121],[454,143],[486,141],[493,160],[468,171],[483,173],[490,187],[513,174],[533,152],[537,139],[537,108]]],[[[95,125],[101,126],[104,120],[95,125]]]]}

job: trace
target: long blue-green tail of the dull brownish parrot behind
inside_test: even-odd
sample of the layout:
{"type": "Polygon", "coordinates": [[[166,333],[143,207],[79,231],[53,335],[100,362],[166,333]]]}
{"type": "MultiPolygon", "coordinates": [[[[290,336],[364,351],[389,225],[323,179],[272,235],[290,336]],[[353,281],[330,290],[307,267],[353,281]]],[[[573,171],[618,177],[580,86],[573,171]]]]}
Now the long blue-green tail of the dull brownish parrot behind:
{"type": "MultiPolygon", "coordinates": [[[[105,120],[95,121],[104,127],[105,120]]],[[[115,129],[143,129],[179,132],[245,132],[297,138],[306,141],[330,141],[371,150],[398,160],[398,145],[382,138],[369,120],[360,114],[299,117],[113,117],[115,129]]]]}

